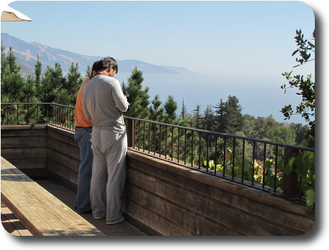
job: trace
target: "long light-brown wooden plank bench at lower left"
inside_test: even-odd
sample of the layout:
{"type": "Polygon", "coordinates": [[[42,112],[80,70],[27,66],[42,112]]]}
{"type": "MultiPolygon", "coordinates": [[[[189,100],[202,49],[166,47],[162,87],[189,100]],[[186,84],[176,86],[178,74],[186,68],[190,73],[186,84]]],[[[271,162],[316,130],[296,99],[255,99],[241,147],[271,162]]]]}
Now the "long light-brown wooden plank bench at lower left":
{"type": "Polygon", "coordinates": [[[1,198],[34,235],[104,235],[2,157],[1,198]]]}

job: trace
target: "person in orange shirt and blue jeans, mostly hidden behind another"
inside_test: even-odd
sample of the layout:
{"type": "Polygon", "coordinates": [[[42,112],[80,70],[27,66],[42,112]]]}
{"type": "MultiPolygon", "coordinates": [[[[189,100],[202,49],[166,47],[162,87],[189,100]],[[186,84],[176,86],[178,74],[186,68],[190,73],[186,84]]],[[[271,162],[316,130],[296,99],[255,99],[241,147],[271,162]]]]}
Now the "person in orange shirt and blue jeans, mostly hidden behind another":
{"type": "Polygon", "coordinates": [[[75,103],[75,120],[74,120],[74,139],[80,148],[80,164],[78,174],[78,188],[77,196],[75,198],[75,208],[79,214],[91,212],[90,205],[90,181],[91,169],[93,163],[93,151],[91,144],[91,120],[84,115],[84,108],[82,107],[82,89],[88,81],[99,71],[99,61],[94,62],[91,69],[91,76],[86,77],[84,83],[80,86],[77,102],[75,103]]]}

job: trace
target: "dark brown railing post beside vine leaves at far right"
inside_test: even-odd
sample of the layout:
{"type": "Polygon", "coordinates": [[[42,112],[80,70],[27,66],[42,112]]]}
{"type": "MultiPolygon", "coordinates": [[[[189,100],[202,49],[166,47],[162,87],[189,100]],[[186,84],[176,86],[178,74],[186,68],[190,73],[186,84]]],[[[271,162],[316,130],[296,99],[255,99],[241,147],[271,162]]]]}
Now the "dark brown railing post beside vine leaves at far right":
{"type": "MultiPolygon", "coordinates": [[[[288,147],[284,149],[284,168],[286,168],[289,159],[294,153],[298,153],[298,150],[288,147]]],[[[295,165],[289,174],[284,174],[283,193],[287,198],[298,198],[300,196],[299,178],[296,173],[295,165]]]]}

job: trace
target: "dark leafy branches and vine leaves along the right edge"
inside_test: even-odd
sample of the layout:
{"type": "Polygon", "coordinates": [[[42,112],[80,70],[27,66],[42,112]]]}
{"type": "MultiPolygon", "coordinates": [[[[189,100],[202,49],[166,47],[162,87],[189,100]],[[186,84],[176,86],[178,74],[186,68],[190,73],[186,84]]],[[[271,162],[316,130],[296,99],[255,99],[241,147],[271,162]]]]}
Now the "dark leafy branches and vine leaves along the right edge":
{"type": "MultiPolygon", "coordinates": [[[[315,40],[314,32],[313,40],[315,40]]],[[[298,48],[292,53],[292,56],[299,53],[299,57],[296,58],[298,64],[295,67],[314,60],[311,57],[316,52],[315,43],[304,39],[301,30],[296,30],[295,41],[298,48]]],[[[307,147],[314,147],[316,139],[316,82],[312,81],[311,74],[308,74],[306,79],[300,74],[292,76],[292,71],[285,72],[282,75],[286,77],[289,85],[284,84],[281,86],[281,89],[284,89],[284,93],[286,93],[286,89],[297,89],[297,95],[301,96],[301,103],[296,106],[295,110],[291,104],[286,105],[281,109],[281,112],[284,114],[285,120],[296,114],[301,115],[306,120],[308,131],[306,133],[306,140],[303,140],[302,143],[307,147]]],[[[299,142],[301,142],[301,138],[299,138],[299,142]]],[[[306,205],[308,211],[311,211],[315,202],[315,154],[311,152],[295,154],[289,160],[285,171],[292,171],[293,166],[296,166],[296,173],[301,180],[301,191],[306,194],[306,205]]]]}

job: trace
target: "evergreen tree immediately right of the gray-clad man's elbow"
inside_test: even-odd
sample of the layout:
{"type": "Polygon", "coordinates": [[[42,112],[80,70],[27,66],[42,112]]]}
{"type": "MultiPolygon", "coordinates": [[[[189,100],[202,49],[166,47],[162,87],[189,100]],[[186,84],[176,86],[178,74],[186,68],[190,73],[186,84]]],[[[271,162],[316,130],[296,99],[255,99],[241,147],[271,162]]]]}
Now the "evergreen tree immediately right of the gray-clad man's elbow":
{"type": "Polygon", "coordinates": [[[126,112],[127,116],[135,118],[148,118],[150,104],[148,95],[149,88],[143,89],[143,73],[136,67],[131,72],[131,76],[128,78],[127,84],[123,82],[122,89],[123,93],[128,96],[128,102],[130,103],[129,109],[126,112]]]}

